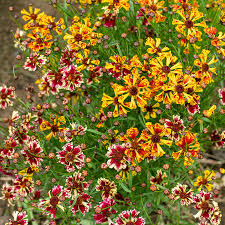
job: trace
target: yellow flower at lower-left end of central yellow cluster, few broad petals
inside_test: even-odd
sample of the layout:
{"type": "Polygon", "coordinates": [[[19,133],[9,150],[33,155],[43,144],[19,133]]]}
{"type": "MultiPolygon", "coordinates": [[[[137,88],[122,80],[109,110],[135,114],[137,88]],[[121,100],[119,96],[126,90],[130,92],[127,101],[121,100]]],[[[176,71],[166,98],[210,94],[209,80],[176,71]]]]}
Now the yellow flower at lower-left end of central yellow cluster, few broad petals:
{"type": "Polygon", "coordinates": [[[113,111],[113,117],[118,117],[119,115],[127,114],[127,110],[125,109],[124,105],[125,98],[126,96],[124,95],[118,96],[116,92],[114,97],[110,97],[109,95],[103,93],[101,107],[106,108],[109,105],[113,104],[115,106],[113,111]]]}

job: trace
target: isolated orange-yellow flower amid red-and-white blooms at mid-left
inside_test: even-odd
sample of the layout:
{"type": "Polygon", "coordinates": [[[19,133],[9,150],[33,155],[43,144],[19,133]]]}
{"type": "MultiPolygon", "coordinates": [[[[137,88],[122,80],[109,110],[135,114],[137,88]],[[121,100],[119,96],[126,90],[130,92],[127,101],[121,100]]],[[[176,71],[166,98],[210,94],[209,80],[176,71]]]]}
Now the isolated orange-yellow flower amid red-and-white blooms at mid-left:
{"type": "MultiPolygon", "coordinates": [[[[52,114],[50,116],[50,120],[52,121],[52,123],[49,123],[47,120],[44,120],[41,125],[40,125],[40,130],[44,131],[44,130],[50,130],[51,132],[45,137],[46,140],[50,140],[51,137],[55,137],[55,136],[59,136],[59,134],[63,134],[63,131],[65,128],[60,127],[61,125],[66,123],[65,117],[64,116],[60,116],[57,117],[57,115],[52,114]]],[[[64,139],[62,137],[59,136],[59,141],[63,142],[64,139]]]]}

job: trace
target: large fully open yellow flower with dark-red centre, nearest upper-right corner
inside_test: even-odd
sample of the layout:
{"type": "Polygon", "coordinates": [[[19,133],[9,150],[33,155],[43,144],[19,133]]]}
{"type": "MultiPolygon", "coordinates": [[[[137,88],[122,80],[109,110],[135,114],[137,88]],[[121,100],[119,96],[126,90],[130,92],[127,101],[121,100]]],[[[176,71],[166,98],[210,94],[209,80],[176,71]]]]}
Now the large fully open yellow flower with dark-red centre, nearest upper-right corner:
{"type": "Polygon", "coordinates": [[[196,8],[193,8],[189,14],[186,14],[185,11],[178,10],[177,14],[181,16],[182,21],[173,19],[172,24],[176,25],[175,29],[184,35],[195,34],[196,36],[201,36],[201,32],[198,30],[198,27],[206,27],[205,21],[197,22],[197,20],[203,18],[203,13],[199,12],[196,8]]]}

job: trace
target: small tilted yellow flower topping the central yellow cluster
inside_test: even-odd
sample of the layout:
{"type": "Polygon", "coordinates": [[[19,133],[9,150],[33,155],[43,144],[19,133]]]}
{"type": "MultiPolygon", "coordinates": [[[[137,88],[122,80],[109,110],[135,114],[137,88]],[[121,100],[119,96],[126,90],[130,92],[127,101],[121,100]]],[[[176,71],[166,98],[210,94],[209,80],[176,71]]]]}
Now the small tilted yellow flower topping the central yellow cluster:
{"type": "Polygon", "coordinates": [[[151,37],[148,37],[146,42],[145,42],[145,45],[148,45],[149,48],[147,49],[147,52],[149,54],[157,54],[158,56],[160,54],[166,54],[167,51],[169,51],[169,48],[168,47],[164,47],[164,48],[160,48],[161,44],[161,39],[160,38],[156,38],[155,40],[151,37]]]}

